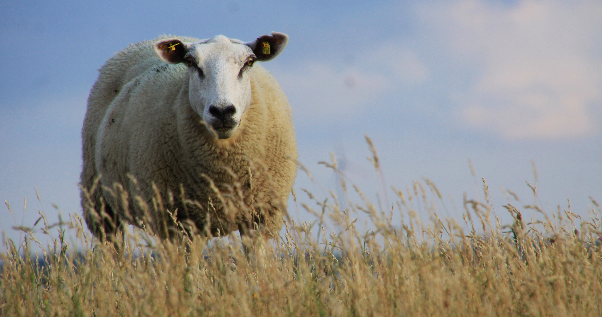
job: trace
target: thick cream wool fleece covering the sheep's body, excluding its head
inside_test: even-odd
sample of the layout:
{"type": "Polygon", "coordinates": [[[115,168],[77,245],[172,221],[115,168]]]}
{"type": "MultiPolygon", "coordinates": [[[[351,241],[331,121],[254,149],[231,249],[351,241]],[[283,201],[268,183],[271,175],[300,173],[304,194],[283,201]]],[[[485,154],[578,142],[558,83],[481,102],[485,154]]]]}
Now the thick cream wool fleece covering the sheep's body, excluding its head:
{"type": "Polygon", "coordinates": [[[186,67],[155,54],[158,39],[110,58],[88,97],[81,173],[88,227],[99,236],[120,221],[151,222],[169,236],[169,210],[213,235],[244,221],[278,232],[297,170],[291,108],[278,82],[255,64],[250,106],[235,134],[217,140],[190,105],[186,67]]]}

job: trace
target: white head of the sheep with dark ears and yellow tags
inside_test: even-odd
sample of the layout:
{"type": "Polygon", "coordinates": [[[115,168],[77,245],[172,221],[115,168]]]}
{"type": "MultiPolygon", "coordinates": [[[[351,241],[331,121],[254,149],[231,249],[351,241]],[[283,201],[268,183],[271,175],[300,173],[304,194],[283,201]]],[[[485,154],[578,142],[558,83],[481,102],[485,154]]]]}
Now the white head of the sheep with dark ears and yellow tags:
{"type": "Polygon", "coordinates": [[[191,106],[214,137],[226,139],[234,134],[251,103],[253,63],[272,60],[287,43],[288,35],[279,32],[247,43],[223,35],[195,43],[166,38],[155,43],[155,52],[166,63],[188,66],[191,106]]]}

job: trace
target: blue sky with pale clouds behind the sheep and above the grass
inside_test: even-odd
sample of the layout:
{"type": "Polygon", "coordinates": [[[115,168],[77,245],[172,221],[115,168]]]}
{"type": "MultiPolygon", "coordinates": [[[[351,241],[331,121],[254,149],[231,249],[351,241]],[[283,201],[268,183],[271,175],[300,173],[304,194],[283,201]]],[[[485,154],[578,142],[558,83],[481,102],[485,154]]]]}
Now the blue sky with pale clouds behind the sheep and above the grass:
{"type": "MultiPolygon", "coordinates": [[[[326,194],[335,152],[350,180],[379,191],[364,142],[379,151],[386,185],[427,177],[461,219],[462,195],[485,177],[499,189],[591,217],[602,200],[600,1],[3,1],[0,3],[0,230],[31,225],[40,209],[81,213],[80,130],[97,69],[115,52],[161,34],[244,41],[270,31],[290,42],[264,63],[293,107],[296,188],[326,194]],[[476,177],[471,176],[468,159],[476,177]],[[42,203],[38,203],[38,188],[42,203]],[[23,214],[23,199],[28,206],[23,214]],[[449,203],[451,204],[451,203],[449,203]]],[[[391,192],[388,193],[392,195],[391,192]]],[[[300,196],[300,195],[299,195],[300,196]]],[[[294,208],[291,206],[291,208],[294,208]]],[[[296,215],[296,210],[293,214],[296,215]]],[[[312,217],[299,210],[302,220],[312,217]]],[[[531,216],[530,214],[527,214],[531,216]]],[[[428,215],[423,215],[428,218],[428,215]]]]}

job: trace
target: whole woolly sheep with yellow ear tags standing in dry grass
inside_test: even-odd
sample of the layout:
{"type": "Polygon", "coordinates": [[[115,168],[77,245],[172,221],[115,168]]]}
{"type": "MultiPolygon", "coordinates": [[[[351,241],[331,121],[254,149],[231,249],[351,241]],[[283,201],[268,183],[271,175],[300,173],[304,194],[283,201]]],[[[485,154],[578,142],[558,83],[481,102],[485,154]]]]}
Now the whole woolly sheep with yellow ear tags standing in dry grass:
{"type": "Polygon", "coordinates": [[[256,61],[288,35],[223,35],[130,45],[99,70],[82,128],[81,205],[88,229],[162,238],[194,230],[277,235],[297,171],[291,107],[256,61]]]}

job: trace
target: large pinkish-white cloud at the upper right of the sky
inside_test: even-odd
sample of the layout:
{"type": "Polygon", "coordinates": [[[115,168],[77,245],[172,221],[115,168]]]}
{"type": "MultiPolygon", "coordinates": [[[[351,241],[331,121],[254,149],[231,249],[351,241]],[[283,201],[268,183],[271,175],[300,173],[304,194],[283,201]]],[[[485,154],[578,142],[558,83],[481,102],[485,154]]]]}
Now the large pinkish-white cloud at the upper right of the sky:
{"type": "Polygon", "coordinates": [[[420,7],[454,58],[477,74],[454,93],[466,123],[503,137],[597,131],[602,105],[602,2],[464,0],[420,7]]]}

